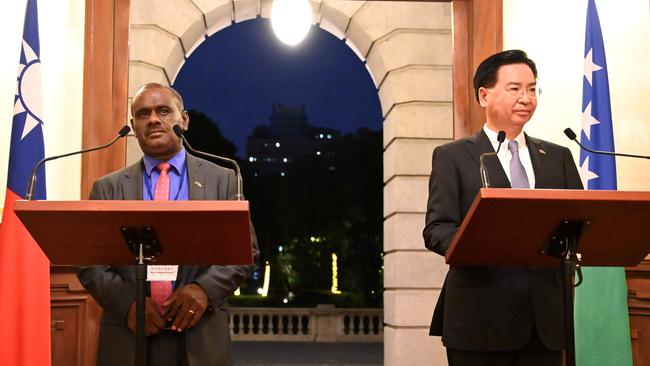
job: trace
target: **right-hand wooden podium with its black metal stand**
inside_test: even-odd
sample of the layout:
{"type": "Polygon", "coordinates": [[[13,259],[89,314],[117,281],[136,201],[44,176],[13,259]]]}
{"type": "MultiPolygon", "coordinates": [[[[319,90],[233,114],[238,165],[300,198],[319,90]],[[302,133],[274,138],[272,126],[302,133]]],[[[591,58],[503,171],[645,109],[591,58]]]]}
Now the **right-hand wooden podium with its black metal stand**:
{"type": "Polygon", "coordinates": [[[650,192],[483,188],[445,260],[463,266],[561,266],[572,366],[576,265],[635,266],[649,252],[650,192]]]}

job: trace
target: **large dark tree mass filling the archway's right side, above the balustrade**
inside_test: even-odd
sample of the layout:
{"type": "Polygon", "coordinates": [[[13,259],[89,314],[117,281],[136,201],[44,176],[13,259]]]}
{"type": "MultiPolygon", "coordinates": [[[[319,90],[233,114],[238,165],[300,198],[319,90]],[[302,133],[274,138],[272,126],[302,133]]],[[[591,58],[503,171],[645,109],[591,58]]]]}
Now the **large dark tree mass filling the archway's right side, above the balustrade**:
{"type": "Polygon", "coordinates": [[[276,290],[297,300],[329,292],[336,253],[339,290],[362,306],[381,306],[382,151],[381,132],[360,129],[320,155],[296,159],[284,177],[254,177],[265,191],[252,206],[264,206],[260,219],[273,227],[267,260],[282,269],[274,273],[283,284],[276,290]]]}

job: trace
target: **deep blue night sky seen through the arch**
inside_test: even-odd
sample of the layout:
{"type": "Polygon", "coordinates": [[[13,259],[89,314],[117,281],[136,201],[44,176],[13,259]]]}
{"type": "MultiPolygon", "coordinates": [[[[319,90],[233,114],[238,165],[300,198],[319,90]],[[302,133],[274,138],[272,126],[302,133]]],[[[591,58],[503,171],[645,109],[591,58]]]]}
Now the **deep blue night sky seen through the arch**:
{"type": "Polygon", "coordinates": [[[343,133],[381,129],[379,97],[365,65],[344,41],[316,26],[290,47],[267,19],[233,24],[190,55],[173,86],[186,109],[217,122],[240,157],[253,127],[269,123],[274,103],[305,104],[310,124],[343,133]]]}

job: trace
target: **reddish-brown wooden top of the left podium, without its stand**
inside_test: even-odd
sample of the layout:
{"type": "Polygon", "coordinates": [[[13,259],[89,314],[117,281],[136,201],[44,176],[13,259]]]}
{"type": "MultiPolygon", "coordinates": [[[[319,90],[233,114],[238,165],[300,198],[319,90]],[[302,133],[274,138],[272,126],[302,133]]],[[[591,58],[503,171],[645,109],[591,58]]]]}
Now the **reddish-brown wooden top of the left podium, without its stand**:
{"type": "Polygon", "coordinates": [[[16,201],[14,211],[52,264],[135,264],[122,228],[152,227],[151,264],[252,264],[248,201],[16,201]]]}

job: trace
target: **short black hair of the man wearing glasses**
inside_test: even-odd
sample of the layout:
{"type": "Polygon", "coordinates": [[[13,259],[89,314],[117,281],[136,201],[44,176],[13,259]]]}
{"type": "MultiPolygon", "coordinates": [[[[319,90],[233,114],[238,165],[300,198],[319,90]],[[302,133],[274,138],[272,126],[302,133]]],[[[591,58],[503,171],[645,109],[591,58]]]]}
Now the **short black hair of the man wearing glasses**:
{"type": "Polygon", "coordinates": [[[497,73],[499,68],[504,65],[526,64],[533,71],[537,79],[537,66],[535,62],[528,58],[526,52],[522,50],[507,50],[486,58],[478,65],[474,74],[474,96],[478,101],[478,89],[481,87],[491,88],[497,82],[497,73]]]}

